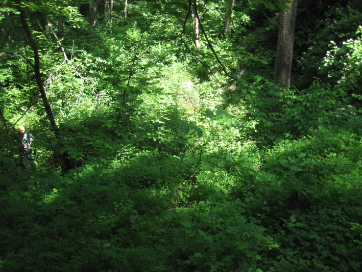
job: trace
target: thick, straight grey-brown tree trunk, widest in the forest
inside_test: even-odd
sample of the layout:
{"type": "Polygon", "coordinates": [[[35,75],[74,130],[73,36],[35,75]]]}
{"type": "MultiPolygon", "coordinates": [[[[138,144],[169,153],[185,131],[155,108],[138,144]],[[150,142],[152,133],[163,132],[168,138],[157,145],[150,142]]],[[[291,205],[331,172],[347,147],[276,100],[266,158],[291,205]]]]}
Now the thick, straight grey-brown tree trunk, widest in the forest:
{"type": "Polygon", "coordinates": [[[282,10],[280,15],[274,83],[289,88],[297,0],[287,5],[289,9],[282,10]]]}

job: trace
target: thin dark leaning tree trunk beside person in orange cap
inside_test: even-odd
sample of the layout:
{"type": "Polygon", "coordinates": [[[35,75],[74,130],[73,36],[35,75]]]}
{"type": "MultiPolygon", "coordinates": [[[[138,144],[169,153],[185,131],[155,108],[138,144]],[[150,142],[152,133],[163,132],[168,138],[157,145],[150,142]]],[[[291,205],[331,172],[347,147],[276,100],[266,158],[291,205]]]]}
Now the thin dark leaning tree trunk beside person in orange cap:
{"type": "Polygon", "coordinates": [[[59,129],[58,126],[55,123],[55,119],[53,116],[53,112],[51,110],[50,104],[48,102],[48,98],[47,98],[47,94],[45,92],[44,86],[43,86],[43,82],[42,82],[42,75],[40,73],[40,58],[39,58],[39,52],[38,52],[38,47],[31,35],[31,31],[26,23],[26,17],[25,17],[25,13],[23,11],[23,9],[20,6],[20,0],[15,0],[15,2],[18,4],[18,10],[20,12],[20,20],[22,22],[22,26],[24,29],[24,32],[26,34],[26,37],[29,41],[30,47],[33,50],[34,53],[34,74],[35,74],[35,79],[36,79],[36,83],[38,84],[39,87],[39,91],[40,91],[40,96],[42,97],[43,100],[43,104],[44,104],[44,108],[47,112],[49,121],[51,126],[53,127],[54,133],[56,137],[59,137],[59,129]]]}

